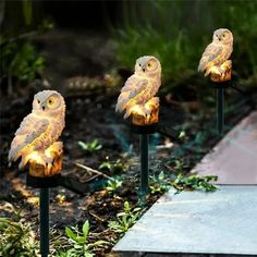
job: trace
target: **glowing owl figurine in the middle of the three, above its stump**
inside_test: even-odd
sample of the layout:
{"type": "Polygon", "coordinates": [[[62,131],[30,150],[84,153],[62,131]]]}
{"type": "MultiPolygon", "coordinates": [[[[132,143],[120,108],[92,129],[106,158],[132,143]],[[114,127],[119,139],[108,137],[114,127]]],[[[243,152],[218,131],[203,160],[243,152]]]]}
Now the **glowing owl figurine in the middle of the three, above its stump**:
{"type": "Polygon", "coordinates": [[[159,98],[155,95],[160,85],[161,64],[159,60],[151,56],[138,58],[134,74],[127,78],[121,89],[115,111],[125,111],[124,119],[135,111],[145,118],[149,117],[152,109],[159,106],[159,98]]]}

